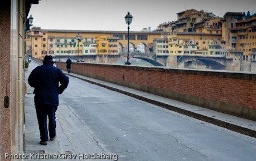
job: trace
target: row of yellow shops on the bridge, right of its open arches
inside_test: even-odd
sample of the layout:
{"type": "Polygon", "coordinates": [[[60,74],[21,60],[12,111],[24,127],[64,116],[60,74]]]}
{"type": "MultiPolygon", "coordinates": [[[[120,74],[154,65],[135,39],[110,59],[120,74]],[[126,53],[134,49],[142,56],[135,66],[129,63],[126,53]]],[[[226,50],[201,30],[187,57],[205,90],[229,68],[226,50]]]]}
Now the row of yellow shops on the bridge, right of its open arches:
{"type": "Polygon", "coordinates": [[[220,34],[177,32],[154,40],[156,55],[225,57],[220,34]],[[164,38],[165,37],[165,38],[164,38]]]}

